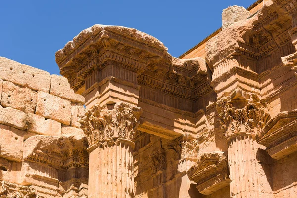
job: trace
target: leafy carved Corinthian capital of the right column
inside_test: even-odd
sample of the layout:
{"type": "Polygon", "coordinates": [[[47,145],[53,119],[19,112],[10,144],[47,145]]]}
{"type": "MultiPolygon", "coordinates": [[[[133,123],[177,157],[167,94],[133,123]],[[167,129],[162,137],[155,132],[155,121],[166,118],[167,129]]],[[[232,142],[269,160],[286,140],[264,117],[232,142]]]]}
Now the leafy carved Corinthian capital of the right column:
{"type": "Polygon", "coordinates": [[[237,93],[217,103],[220,124],[226,137],[229,138],[240,132],[257,136],[271,118],[267,112],[265,100],[259,99],[255,94],[243,96],[238,90],[234,92],[237,93]],[[232,98],[233,95],[234,98],[232,98]],[[248,97],[249,99],[246,99],[248,97]],[[244,107],[240,108],[243,105],[244,107]]]}

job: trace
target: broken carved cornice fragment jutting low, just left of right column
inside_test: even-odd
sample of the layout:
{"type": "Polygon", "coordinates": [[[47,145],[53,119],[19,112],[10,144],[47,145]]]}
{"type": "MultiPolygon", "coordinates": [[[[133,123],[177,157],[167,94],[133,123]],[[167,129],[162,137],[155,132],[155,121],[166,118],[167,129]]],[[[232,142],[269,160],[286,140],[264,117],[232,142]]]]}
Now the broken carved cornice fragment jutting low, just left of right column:
{"type": "Polygon", "coordinates": [[[197,183],[200,193],[209,195],[230,182],[227,157],[223,152],[204,153],[187,171],[187,175],[197,183]]]}

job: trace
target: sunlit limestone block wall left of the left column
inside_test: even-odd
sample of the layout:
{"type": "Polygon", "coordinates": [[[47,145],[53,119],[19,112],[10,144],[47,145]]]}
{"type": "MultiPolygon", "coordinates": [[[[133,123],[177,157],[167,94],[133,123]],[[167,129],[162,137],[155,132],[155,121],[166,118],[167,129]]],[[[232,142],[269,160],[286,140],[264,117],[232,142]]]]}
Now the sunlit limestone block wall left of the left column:
{"type": "Polygon", "coordinates": [[[83,104],[66,78],[0,57],[0,180],[10,194],[13,183],[46,198],[87,196],[83,104]]]}

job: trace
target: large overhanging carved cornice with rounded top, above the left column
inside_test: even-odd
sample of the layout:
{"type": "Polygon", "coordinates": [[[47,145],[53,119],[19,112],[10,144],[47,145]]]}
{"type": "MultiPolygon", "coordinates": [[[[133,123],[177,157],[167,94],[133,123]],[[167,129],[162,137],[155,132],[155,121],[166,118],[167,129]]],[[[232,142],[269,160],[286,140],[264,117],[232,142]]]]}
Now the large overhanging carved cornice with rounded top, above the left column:
{"type": "Polygon", "coordinates": [[[101,80],[93,74],[108,65],[137,73],[138,85],[182,99],[195,101],[212,90],[204,59],[174,58],[159,40],[132,28],[94,25],[57,51],[56,62],[71,88],[84,95],[101,80]]]}

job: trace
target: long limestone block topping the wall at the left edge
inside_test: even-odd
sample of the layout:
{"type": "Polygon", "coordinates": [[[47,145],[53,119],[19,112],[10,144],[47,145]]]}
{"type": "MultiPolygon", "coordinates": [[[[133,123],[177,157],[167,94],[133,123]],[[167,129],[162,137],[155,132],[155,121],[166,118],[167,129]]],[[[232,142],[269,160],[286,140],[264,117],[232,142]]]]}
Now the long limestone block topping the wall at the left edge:
{"type": "Polygon", "coordinates": [[[49,72],[0,57],[0,78],[33,90],[49,93],[49,72]]]}

